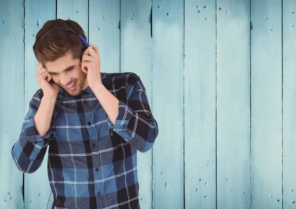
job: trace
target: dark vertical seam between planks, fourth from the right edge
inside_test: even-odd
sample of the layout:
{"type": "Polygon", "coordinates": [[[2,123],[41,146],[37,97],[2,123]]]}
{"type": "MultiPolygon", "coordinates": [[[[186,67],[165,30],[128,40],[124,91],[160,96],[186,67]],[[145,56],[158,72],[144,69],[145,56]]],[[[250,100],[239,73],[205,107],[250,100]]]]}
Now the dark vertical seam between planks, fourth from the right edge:
{"type": "Polygon", "coordinates": [[[183,198],[185,209],[185,0],[183,0],[183,198]]]}

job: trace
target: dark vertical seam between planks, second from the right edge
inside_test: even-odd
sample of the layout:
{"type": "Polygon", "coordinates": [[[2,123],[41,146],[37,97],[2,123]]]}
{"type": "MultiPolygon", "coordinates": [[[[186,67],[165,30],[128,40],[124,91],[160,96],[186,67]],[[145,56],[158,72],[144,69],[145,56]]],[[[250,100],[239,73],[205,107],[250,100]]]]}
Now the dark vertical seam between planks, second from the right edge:
{"type": "Polygon", "coordinates": [[[251,41],[252,41],[252,15],[251,15],[251,0],[250,0],[250,209],[252,208],[252,59],[251,59],[251,41]]]}

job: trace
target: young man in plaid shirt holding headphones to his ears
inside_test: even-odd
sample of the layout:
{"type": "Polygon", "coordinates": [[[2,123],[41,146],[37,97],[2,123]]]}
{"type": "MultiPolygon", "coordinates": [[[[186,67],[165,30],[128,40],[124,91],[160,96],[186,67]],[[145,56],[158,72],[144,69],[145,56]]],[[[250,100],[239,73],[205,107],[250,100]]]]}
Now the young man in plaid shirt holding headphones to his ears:
{"type": "Polygon", "coordinates": [[[47,21],[37,33],[41,89],[12,158],[20,171],[34,173],[49,146],[54,209],[138,209],[137,150],[149,150],[158,134],[145,87],[132,72],[102,73],[98,47],[85,50],[73,33],[42,34],[52,27],[86,39],[72,20],[47,21]]]}

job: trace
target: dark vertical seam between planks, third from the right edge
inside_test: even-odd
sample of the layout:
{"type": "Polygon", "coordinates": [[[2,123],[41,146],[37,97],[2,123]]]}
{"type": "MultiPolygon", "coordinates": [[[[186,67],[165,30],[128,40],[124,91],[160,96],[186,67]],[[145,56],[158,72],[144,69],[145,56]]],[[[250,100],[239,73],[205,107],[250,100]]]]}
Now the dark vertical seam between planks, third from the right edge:
{"type": "Polygon", "coordinates": [[[215,118],[216,118],[216,127],[215,127],[215,129],[216,129],[216,136],[215,136],[215,148],[216,148],[216,209],[217,209],[217,195],[218,195],[218,193],[217,193],[217,0],[216,0],[216,3],[215,3],[215,21],[216,21],[216,28],[215,28],[215,39],[216,39],[216,41],[215,41],[215,68],[216,68],[216,87],[215,87],[215,91],[216,91],[216,107],[215,107],[215,118]]]}

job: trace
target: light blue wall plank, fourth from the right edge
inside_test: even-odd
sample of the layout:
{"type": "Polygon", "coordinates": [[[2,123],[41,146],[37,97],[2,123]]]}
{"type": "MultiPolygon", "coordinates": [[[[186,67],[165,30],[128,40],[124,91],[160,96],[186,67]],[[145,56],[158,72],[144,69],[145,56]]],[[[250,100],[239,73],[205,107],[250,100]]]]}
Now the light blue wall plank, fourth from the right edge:
{"type": "Polygon", "coordinates": [[[215,51],[216,2],[185,0],[186,209],[216,208],[215,51]]]}

